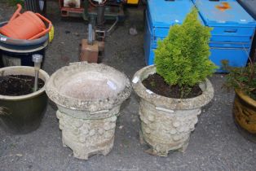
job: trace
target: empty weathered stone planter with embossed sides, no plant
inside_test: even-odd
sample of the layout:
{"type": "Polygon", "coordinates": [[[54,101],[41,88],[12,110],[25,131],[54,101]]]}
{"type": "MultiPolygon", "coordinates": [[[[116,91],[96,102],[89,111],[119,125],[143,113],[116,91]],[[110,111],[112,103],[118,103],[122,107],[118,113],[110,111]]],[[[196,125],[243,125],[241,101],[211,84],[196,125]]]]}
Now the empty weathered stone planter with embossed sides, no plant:
{"type": "Polygon", "coordinates": [[[77,63],[60,68],[46,83],[57,104],[64,147],[87,160],[111,151],[120,105],[130,96],[125,74],[104,64],[77,63]]]}

